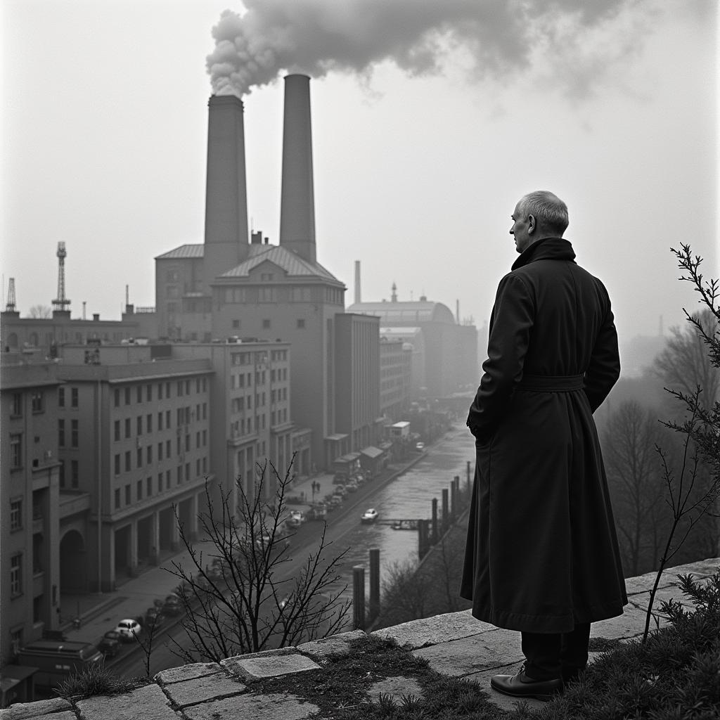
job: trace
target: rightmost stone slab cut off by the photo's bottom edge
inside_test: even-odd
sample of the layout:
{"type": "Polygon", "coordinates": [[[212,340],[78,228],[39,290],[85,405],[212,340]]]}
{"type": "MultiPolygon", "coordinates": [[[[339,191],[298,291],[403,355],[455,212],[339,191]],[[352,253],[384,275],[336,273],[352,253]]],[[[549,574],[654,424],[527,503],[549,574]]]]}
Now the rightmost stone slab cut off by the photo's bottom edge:
{"type": "Polygon", "coordinates": [[[294,695],[238,695],[184,708],[188,720],[305,720],[318,713],[317,705],[294,695]]]}

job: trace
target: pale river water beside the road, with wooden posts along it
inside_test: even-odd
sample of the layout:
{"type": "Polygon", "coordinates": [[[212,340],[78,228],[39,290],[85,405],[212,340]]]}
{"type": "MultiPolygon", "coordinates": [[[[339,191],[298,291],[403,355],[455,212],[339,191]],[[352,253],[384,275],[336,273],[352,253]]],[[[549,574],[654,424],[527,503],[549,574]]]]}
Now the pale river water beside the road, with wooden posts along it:
{"type": "MultiPolygon", "coordinates": [[[[368,507],[379,512],[379,519],[389,518],[430,518],[432,500],[438,500],[438,513],[442,508],[443,490],[452,483],[455,475],[460,476],[460,487],[467,482],[467,462],[471,461],[474,471],[474,442],[467,428],[455,428],[428,446],[426,455],[407,472],[385,485],[382,490],[368,499],[368,507]]],[[[471,478],[472,479],[472,478],[471,478]]],[[[358,516],[366,508],[359,508],[358,516]]],[[[390,525],[380,522],[362,525],[359,521],[333,548],[336,552],[349,548],[343,559],[343,582],[348,583],[352,593],[352,567],[365,567],[366,587],[369,581],[369,551],[380,551],[381,581],[384,568],[395,562],[418,557],[418,531],[393,530],[390,525]]]]}

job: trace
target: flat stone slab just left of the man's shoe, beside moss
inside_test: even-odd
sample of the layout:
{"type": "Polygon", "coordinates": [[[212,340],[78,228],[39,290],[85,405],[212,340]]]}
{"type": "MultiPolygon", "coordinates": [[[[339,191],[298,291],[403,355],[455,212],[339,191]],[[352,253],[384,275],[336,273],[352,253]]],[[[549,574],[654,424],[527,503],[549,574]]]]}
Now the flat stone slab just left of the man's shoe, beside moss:
{"type": "Polygon", "coordinates": [[[500,629],[416,649],[413,655],[425,658],[433,670],[451,677],[470,675],[523,660],[520,633],[500,629]]]}

